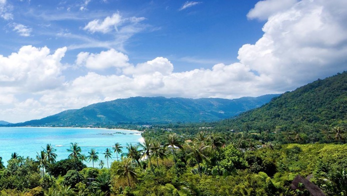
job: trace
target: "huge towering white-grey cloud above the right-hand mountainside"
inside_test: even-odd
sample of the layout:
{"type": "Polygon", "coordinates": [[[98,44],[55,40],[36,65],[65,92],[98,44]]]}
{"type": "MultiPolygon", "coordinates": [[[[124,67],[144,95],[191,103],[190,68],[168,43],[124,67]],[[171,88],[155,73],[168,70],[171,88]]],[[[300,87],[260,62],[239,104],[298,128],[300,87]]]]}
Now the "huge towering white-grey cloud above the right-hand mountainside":
{"type": "Polygon", "coordinates": [[[346,7],[345,0],[301,0],[269,16],[263,36],[255,44],[243,45],[238,59],[269,77],[271,87],[278,90],[343,71],[346,7]]]}

